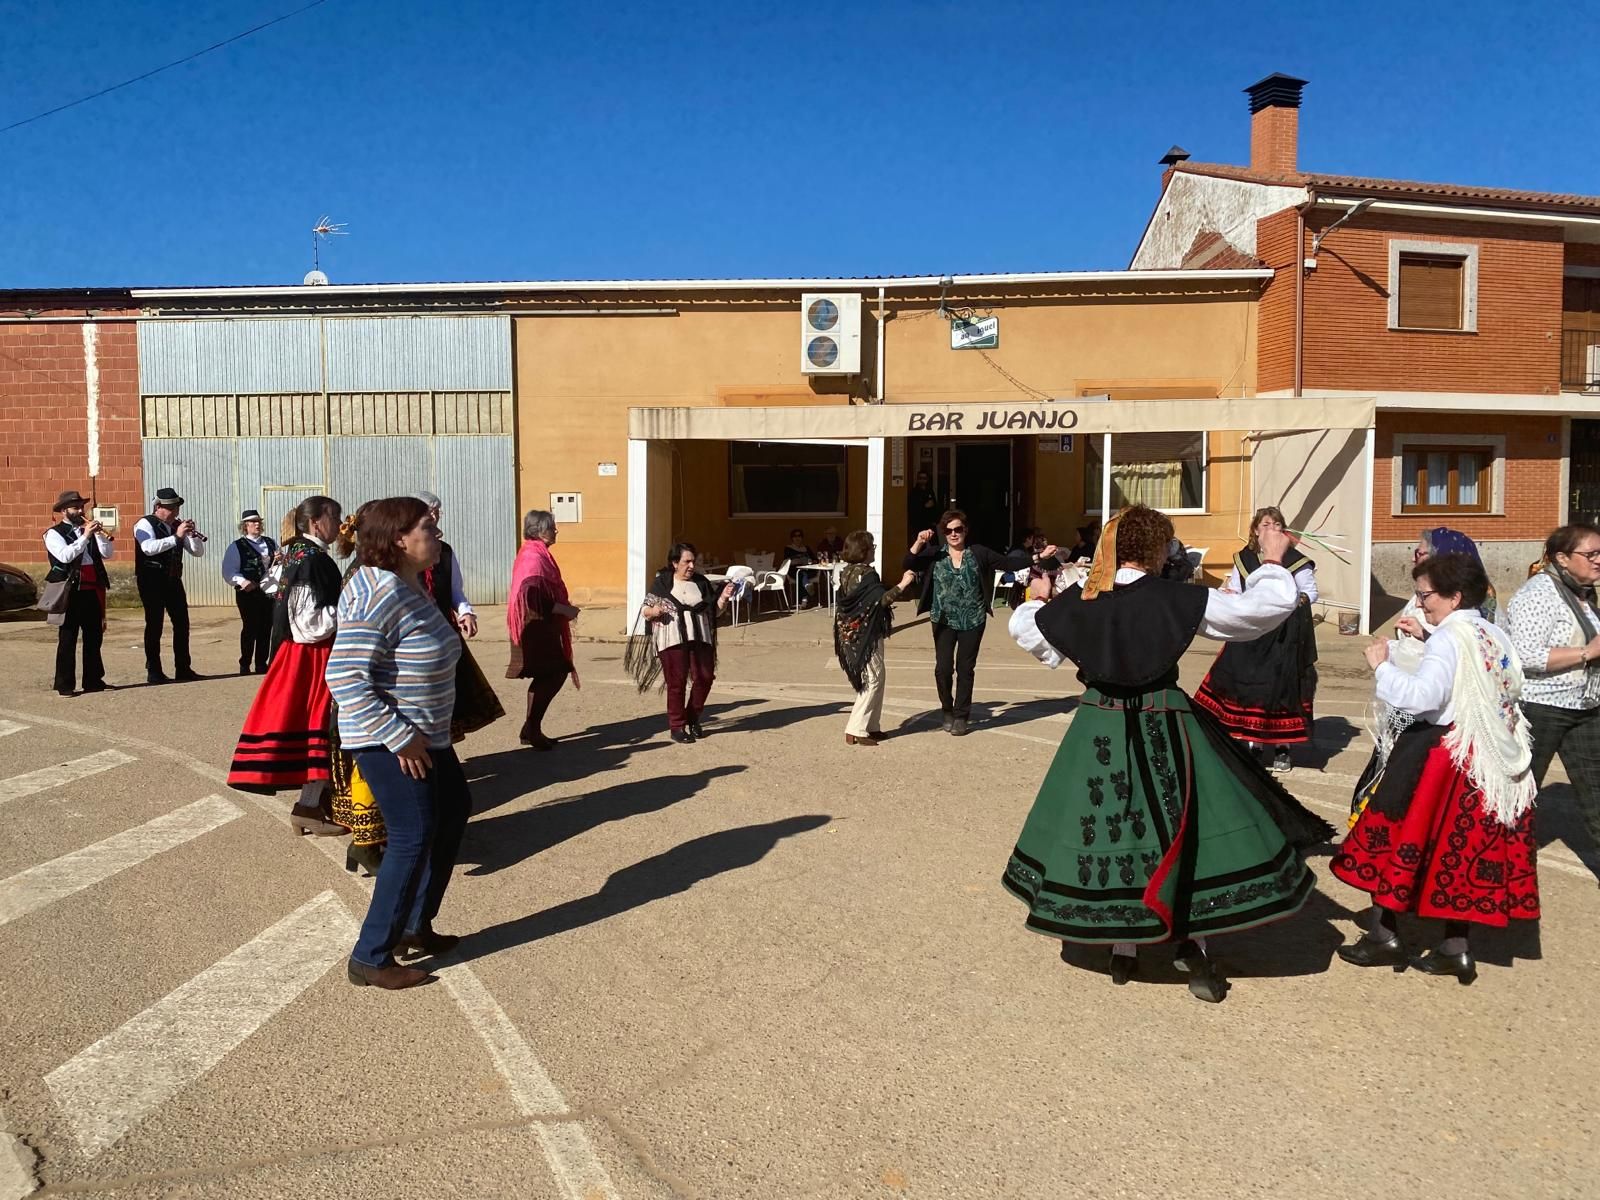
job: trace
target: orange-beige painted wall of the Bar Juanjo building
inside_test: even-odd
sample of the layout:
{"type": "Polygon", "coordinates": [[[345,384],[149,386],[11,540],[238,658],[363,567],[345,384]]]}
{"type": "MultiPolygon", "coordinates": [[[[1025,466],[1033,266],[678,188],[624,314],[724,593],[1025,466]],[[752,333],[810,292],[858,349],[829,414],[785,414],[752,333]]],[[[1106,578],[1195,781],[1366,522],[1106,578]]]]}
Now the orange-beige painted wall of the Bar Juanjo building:
{"type": "MultiPolygon", "coordinates": [[[[1061,285],[1051,286],[1056,294],[1029,286],[1003,296],[952,294],[950,304],[1000,317],[1000,346],[982,354],[950,350],[936,294],[891,299],[885,400],[982,403],[1141,387],[1254,394],[1253,282],[1222,290],[1163,283],[1168,294],[1061,294],[1061,285]]],[[[557,550],[578,603],[619,603],[626,592],[627,410],[850,403],[848,390],[870,397],[875,299],[867,294],[864,302],[862,376],[814,386],[798,368],[798,293],[629,294],[627,302],[677,312],[515,320],[518,499],[523,509],[546,507],[552,491],[582,493],[584,518],[563,523],[557,550]],[[602,477],[602,462],[616,462],[618,474],[602,477]]],[[[1224,459],[1235,454],[1237,437],[1211,442],[1213,512],[1178,518],[1179,536],[1197,544],[1214,536],[1214,554],[1226,560],[1222,534],[1237,526],[1242,490],[1224,459]]],[[[1074,454],[1032,453],[1037,522],[1070,541],[1083,514],[1082,438],[1074,454]]],[[[680,526],[674,534],[686,533],[718,555],[776,547],[795,523],[728,518],[726,451],[712,443],[675,448],[672,486],[680,526]]],[[[1248,504],[1248,486],[1243,496],[1248,504]]],[[[866,454],[853,450],[851,514],[838,522],[842,531],[864,523],[864,502],[866,454]]],[[[883,507],[885,546],[893,549],[907,541],[904,488],[886,486],[883,507]]],[[[829,518],[798,523],[814,538],[829,518]]]]}

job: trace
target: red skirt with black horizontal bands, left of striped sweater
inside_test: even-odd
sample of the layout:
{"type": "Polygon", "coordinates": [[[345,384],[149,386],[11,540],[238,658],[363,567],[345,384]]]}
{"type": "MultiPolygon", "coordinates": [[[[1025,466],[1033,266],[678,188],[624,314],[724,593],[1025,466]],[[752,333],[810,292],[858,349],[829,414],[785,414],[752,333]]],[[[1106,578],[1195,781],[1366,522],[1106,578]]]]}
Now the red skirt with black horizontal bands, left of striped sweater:
{"type": "Polygon", "coordinates": [[[278,646],[238,734],[229,787],[280,792],[331,776],[323,680],[331,651],[333,640],[278,646]]]}

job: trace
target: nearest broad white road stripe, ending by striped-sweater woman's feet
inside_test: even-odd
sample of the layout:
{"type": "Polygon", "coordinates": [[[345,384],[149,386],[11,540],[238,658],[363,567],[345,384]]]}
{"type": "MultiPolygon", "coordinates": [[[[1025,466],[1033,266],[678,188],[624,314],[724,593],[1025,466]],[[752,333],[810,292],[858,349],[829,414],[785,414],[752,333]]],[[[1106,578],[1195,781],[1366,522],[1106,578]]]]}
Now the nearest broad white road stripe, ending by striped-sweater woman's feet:
{"type": "Polygon", "coordinates": [[[325,891],[45,1075],[90,1158],[189,1086],[350,952],[325,891]]]}

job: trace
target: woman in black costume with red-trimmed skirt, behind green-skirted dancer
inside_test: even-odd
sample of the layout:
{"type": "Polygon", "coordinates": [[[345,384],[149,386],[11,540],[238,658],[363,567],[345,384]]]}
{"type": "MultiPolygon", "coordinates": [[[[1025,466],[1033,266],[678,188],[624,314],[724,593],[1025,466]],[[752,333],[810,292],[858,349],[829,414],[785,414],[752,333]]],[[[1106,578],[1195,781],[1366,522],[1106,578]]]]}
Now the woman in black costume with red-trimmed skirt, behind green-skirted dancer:
{"type": "MultiPolygon", "coordinates": [[[[1261,530],[1285,530],[1283,514],[1259,509],[1250,522],[1250,542],[1234,555],[1222,590],[1243,592],[1262,566],[1261,530]]],[[[1290,619],[1253,642],[1229,642],[1195,690],[1195,704],[1251,749],[1275,746],[1272,770],[1291,768],[1290,746],[1310,741],[1312,701],[1317,694],[1317,629],[1310,606],[1317,600],[1317,563],[1291,547],[1283,568],[1299,594],[1290,619]]]]}

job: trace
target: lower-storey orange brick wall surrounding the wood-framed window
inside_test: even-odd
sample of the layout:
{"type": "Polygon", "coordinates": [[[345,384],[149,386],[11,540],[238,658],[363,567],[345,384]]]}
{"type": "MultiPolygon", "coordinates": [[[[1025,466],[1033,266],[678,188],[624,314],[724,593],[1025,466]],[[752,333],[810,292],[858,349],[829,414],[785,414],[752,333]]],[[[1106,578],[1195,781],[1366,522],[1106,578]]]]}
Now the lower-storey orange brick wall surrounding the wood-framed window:
{"type": "Polygon", "coordinates": [[[1437,413],[1379,413],[1373,472],[1373,541],[1408,541],[1419,530],[1448,525],[1477,541],[1544,541],[1562,523],[1562,421],[1437,413]],[[1506,437],[1506,515],[1394,514],[1395,435],[1493,434],[1506,437]]]}

